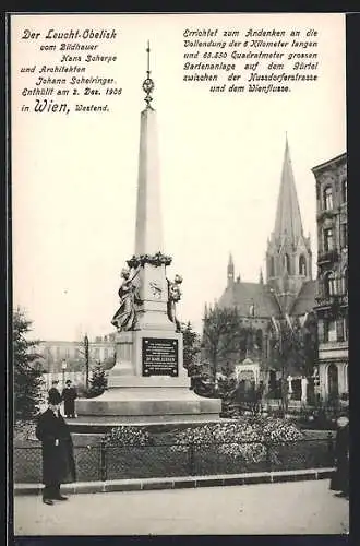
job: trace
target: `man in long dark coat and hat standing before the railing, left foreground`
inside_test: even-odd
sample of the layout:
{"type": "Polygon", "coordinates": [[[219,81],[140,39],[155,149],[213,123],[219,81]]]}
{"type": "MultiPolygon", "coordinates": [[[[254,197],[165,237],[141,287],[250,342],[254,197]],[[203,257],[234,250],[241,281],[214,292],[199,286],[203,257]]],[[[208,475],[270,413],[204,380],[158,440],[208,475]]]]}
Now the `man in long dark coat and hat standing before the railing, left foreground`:
{"type": "Polygon", "coordinates": [[[59,406],[61,395],[52,392],[49,395],[49,407],[39,416],[36,437],[43,443],[43,502],[53,505],[53,500],[68,500],[60,494],[63,482],[74,482],[75,463],[73,444],[64,418],[59,406]]]}

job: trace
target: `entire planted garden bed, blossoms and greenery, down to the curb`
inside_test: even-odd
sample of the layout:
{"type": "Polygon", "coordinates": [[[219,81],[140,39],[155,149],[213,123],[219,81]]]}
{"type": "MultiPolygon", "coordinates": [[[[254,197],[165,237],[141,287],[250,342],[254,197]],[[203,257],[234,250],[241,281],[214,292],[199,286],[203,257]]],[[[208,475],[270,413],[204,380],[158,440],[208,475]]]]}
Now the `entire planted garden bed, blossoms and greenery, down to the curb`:
{"type": "MultiPolygon", "coordinates": [[[[80,480],[218,475],[333,465],[332,439],[309,437],[286,419],[242,417],[180,430],[116,427],[74,451],[80,480]]],[[[34,443],[34,442],[33,442],[34,443]]],[[[14,480],[40,477],[40,444],[15,448],[14,480]]]]}

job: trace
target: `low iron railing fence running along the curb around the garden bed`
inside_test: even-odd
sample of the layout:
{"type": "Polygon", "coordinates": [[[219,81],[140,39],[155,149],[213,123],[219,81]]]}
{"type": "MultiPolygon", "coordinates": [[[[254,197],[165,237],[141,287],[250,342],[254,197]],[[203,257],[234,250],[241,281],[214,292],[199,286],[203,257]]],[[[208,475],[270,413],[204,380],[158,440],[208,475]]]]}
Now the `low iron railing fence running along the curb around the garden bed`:
{"type": "MultiPolygon", "coordinates": [[[[243,472],[276,472],[331,467],[334,438],[287,442],[231,441],[223,443],[160,443],[74,447],[79,482],[203,476],[243,472]]],[[[15,447],[15,483],[41,482],[40,446],[15,447]]]]}

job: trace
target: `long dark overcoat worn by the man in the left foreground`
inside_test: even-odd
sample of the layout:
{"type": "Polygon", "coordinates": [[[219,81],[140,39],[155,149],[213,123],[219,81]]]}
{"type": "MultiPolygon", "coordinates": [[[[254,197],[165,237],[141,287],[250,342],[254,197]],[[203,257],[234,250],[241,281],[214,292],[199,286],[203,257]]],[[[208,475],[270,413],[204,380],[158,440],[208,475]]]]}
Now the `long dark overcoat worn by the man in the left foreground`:
{"type": "Polygon", "coordinates": [[[36,437],[43,443],[43,483],[62,484],[76,479],[73,443],[69,426],[48,408],[37,422],[36,437]],[[59,446],[56,446],[59,440],[59,446]]]}

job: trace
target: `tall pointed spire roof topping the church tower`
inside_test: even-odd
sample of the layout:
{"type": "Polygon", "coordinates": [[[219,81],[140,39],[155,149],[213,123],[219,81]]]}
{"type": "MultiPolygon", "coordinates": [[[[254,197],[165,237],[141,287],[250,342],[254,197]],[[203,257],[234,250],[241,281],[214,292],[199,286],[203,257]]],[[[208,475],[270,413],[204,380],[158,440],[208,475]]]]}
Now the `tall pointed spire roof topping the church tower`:
{"type": "Polygon", "coordinates": [[[287,235],[291,242],[297,241],[298,238],[302,235],[300,206],[297,189],[295,186],[287,135],[280,191],[277,200],[274,235],[276,238],[283,238],[285,235],[287,235]]]}

